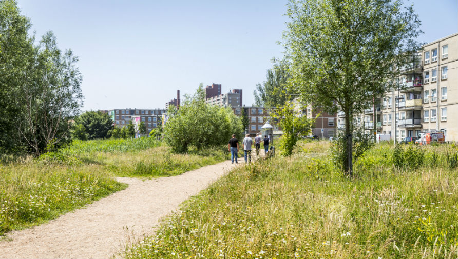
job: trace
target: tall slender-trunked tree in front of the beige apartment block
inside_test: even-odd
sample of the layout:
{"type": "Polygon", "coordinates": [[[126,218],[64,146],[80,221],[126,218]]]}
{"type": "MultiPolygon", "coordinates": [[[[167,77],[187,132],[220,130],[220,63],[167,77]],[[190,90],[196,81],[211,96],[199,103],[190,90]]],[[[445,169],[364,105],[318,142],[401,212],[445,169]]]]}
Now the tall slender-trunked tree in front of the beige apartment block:
{"type": "Polygon", "coordinates": [[[413,62],[418,16],[401,0],[290,0],[287,15],[289,87],[305,101],[345,112],[343,170],[352,175],[352,117],[393,89],[399,68],[413,62]]]}

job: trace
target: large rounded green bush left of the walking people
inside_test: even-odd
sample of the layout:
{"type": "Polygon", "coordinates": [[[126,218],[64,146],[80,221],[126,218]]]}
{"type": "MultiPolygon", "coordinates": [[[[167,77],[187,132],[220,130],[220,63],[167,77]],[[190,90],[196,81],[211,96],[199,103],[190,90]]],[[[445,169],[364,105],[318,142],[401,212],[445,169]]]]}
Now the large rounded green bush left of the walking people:
{"type": "Polygon", "coordinates": [[[198,150],[220,146],[232,134],[241,136],[243,132],[240,118],[231,108],[205,103],[202,84],[193,97],[187,96],[180,109],[169,111],[169,115],[164,140],[176,153],[185,153],[191,146],[198,150]]]}

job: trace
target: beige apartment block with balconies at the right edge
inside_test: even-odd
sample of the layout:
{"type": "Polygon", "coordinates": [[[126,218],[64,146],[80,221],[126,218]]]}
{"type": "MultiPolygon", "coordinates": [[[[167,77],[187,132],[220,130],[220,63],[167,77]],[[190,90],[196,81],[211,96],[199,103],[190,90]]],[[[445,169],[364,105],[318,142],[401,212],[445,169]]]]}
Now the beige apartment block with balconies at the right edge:
{"type": "MultiPolygon", "coordinates": [[[[357,126],[402,140],[421,132],[442,131],[446,141],[458,141],[458,33],[425,44],[400,69],[398,89],[375,99],[356,116],[357,126]]],[[[338,129],[345,120],[338,114],[338,129]]]]}

